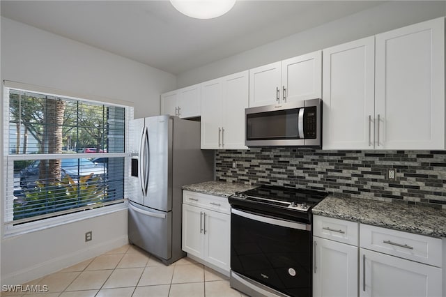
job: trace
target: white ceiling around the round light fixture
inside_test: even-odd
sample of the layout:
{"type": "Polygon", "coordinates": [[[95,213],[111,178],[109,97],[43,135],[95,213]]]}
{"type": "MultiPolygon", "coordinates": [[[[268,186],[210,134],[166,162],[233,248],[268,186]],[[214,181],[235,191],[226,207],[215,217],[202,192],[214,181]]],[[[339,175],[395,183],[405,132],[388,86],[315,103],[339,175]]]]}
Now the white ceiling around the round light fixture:
{"type": "Polygon", "coordinates": [[[178,74],[382,1],[247,1],[197,20],[163,1],[1,1],[1,15],[178,74]]]}

